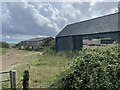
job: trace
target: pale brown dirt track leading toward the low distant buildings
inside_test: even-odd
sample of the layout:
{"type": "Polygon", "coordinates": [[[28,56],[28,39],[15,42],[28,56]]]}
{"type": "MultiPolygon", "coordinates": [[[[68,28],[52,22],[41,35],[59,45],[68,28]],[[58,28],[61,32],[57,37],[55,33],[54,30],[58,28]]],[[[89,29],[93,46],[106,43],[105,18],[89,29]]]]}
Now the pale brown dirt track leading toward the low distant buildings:
{"type": "Polygon", "coordinates": [[[12,69],[12,65],[19,61],[24,60],[24,57],[29,57],[34,54],[42,54],[41,52],[20,51],[16,49],[10,49],[2,56],[2,71],[8,71],[12,69]]]}

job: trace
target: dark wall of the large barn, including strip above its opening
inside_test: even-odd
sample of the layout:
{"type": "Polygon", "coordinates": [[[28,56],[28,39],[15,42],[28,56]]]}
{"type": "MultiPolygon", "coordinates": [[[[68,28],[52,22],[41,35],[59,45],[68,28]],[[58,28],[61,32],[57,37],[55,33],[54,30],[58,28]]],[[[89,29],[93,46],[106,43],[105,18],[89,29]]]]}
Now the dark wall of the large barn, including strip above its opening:
{"type": "Polygon", "coordinates": [[[120,32],[108,32],[91,35],[75,35],[75,36],[63,36],[56,37],[56,51],[73,51],[80,50],[83,47],[83,38],[89,39],[102,39],[111,38],[111,40],[120,43],[120,32]]]}

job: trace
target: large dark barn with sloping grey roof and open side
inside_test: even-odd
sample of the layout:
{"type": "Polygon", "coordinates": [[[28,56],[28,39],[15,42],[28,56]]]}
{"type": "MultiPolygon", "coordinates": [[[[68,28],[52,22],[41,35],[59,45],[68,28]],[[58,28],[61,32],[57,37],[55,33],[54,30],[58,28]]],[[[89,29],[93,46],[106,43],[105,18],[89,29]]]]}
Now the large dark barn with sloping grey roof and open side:
{"type": "Polygon", "coordinates": [[[102,39],[119,43],[120,12],[69,24],[56,36],[56,51],[80,50],[83,40],[102,39]]]}

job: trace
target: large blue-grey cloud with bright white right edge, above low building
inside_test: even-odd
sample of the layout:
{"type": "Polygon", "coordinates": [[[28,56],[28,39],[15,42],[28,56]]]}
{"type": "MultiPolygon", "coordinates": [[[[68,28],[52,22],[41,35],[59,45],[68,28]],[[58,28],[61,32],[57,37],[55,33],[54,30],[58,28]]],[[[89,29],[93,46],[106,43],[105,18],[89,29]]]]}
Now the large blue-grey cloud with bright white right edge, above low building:
{"type": "MultiPolygon", "coordinates": [[[[3,34],[49,35],[55,36],[59,31],[56,23],[27,2],[5,3],[10,12],[10,23],[2,22],[3,34]],[[10,27],[12,25],[12,27],[10,27]]],[[[4,13],[5,15],[6,13],[4,13]]],[[[5,15],[6,16],[6,15],[5,15]]],[[[8,18],[8,17],[7,17],[8,18]]]]}

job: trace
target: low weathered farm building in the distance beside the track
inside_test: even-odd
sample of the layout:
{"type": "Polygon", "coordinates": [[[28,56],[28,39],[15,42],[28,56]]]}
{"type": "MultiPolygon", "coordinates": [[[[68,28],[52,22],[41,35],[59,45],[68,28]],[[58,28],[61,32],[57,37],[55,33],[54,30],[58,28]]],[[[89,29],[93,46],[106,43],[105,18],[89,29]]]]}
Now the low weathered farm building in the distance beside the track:
{"type": "Polygon", "coordinates": [[[37,49],[42,45],[46,45],[50,43],[53,39],[54,38],[52,37],[32,38],[25,41],[21,41],[19,44],[21,49],[26,49],[26,48],[37,49]]]}

